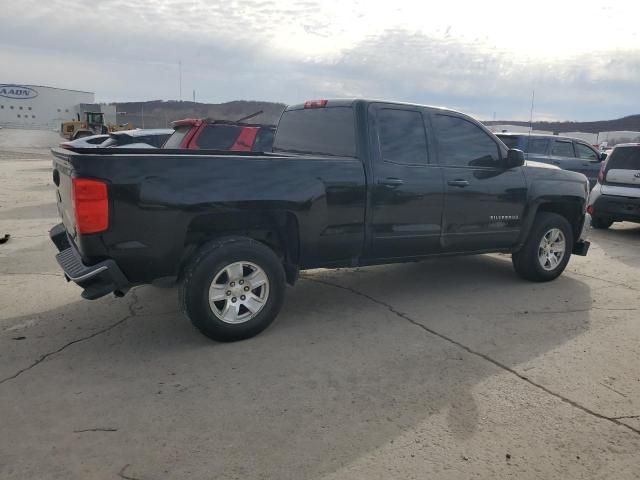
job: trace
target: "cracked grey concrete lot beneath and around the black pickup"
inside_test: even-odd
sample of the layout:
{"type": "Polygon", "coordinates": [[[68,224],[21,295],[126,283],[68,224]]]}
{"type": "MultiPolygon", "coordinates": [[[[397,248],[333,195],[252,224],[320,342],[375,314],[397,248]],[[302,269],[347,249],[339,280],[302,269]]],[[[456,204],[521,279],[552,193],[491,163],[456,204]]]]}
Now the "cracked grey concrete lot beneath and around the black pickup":
{"type": "Polygon", "coordinates": [[[307,272],[217,344],[174,289],[62,278],[53,132],[0,130],[0,478],[640,476],[640,226],[547,284],[504,255],[307,272]]]}

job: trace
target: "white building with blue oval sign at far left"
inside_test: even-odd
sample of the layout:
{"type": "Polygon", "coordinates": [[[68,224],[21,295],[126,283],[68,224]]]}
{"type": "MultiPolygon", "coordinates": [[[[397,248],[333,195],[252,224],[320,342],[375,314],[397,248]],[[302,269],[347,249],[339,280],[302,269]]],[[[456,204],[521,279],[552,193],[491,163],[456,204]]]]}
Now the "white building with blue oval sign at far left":
{"type": "Polygon", "coordinates": [[[94,101],[92,92],[0,84],[0,126],[59,130],[62,122],[74,119],[77,105],[94,101]]]}

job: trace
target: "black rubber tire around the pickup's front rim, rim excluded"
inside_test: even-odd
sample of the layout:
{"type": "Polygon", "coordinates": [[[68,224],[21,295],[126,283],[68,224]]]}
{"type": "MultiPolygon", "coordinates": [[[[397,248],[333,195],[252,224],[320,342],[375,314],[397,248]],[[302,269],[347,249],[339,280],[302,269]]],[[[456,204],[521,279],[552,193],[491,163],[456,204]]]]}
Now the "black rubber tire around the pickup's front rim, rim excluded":
{"type": "Polygon", "coordinates": [[[548,282],[557,278],[569,263],[571,250],[573,248],[573,230],[565,217],[551,212],[540,212],[536,215],[529,237],[524,246],[511,255],[511,261],[516,273],[532,282],[548,282]],[[545,269],[538,253],[543,237],[551,230],[559,229],[565,238],[564,255],[559,263],[552,269],[545,269]]]}

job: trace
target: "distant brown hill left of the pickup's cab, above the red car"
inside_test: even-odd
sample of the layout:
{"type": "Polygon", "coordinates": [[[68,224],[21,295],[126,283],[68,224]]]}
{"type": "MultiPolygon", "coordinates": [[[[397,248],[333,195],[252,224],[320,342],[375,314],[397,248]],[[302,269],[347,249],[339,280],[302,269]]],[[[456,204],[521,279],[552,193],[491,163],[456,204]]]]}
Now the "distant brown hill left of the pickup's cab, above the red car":
{"type": "Polygon", "coordinates": [[[283,103],[236,100],[226,103],[198,103],[151,100],[148,102],[116,102],[118,123],[131,122],[139,128],[170,127],[171,122],[183,118],[214,118],[239,120],[263,110],[248,120],[252,123],[277,124],[285,108],[283,103]]]}

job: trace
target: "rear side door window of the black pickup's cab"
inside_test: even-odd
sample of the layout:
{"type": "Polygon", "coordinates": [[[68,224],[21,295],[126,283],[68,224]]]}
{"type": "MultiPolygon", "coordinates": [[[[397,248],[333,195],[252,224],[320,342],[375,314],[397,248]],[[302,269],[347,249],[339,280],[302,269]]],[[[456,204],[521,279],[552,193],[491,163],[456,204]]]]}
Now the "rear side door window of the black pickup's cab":
{"type": "Polygon", "coordinates": [[[383,108],[378,111],[382,160],[401,165],[425,165],[427,137],[420,112],[383,108]]]}

